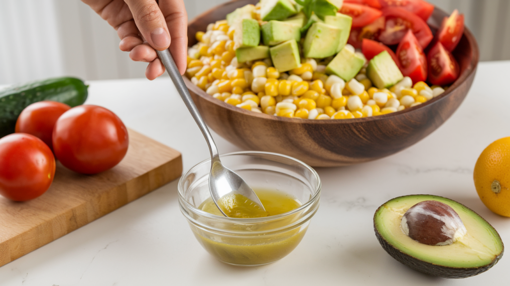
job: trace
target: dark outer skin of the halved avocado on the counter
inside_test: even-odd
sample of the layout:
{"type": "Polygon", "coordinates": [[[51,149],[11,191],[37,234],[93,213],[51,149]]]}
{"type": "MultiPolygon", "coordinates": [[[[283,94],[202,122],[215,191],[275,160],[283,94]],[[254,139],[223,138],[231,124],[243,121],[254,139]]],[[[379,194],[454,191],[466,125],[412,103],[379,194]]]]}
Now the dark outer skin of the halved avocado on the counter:
{"type": "MultiPolygon", "coordinates": [[[[407,197],[407,196],[396,197],[391,200],[403,198],[403,197],[407,197]]],[[[377,230],[377,224],[375,223],[375,217],[376,217],[377,213],[379,212],[379,210],[381,209],[381,207],[384,207],[386,205],[386,203],[387,202],[385,202],[384,204],[379,206],[374,214],[375,237],[377,238],[377,241],[379,241],[382,248],[384,248],[384,250],[386,250],[386,252],[388,252],[388,254],[390,254],[393,258],[395,258],[398,262],[402,263],[403,265],[409,266],[410,268],[412,268],[416,271],[420,271],[420,272],[423,272],[425,274],[432,275],[432,276],[439,276],[439,277],[443,277],[443,278],[467,278],[467,277],[475,276],[475,275],[478,275],[482,272],[489,270],[491,267],[496,265],[496,263],[499,261],[499,259],[501,259],[501,257],[503,257],[504,246],[503,246],[503,249],[501,250],[501,253],[498,256],[496,256],[491,263],[489,263],[485,266],[472,267],[472,268],[456,268],[456,267],[441,266],[441,265],[424,262],[424,261],[422,261],[418,258],[415,258],[409,254],[403,253],[398,248],[391,245],[387,240],[385,240],[380,235],[379,231],[377,230]]],[[[459,204],[461,204],[461,203],[459,203],[459,204]]],[[[469,209],[469,207],[466,207],[466,208],[469,209]]],[[[469,209],[469,210],[471,210],[471,209],[469,209]]],[[[471,210],[471,211],[474,214],[476,214],[477,216],[479,216],[473,210],[471,210]]],[[[488,225],[491,225],[485,219],[483,219],[483,220],[488,225]]],[[[498,233],[498,237],[499,237],[499,233],[498,233]]],[[[501,239],[501,237],[499,237],[499,239],[501,239]]]]}

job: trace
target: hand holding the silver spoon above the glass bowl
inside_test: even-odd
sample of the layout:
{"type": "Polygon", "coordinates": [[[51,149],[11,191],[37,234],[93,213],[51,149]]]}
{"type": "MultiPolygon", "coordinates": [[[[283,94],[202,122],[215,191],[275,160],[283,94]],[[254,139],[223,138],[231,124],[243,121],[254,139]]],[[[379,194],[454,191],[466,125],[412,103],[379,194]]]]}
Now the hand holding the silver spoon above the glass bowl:
{"type": "Polygon", "coordinates": [[[133,61],[149,63],[149,80],[165,72],[157,50],[170,47],[181,74],[186,71],[188,16],[183,0],[82,0],[117,31],[119,48],[133,61]]]}

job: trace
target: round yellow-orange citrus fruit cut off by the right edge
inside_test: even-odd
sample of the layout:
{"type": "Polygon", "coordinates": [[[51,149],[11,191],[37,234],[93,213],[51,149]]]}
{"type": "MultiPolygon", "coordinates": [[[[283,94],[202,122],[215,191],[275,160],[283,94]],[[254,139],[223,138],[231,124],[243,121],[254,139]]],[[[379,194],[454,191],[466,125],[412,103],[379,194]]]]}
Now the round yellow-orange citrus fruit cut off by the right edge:
{"type": "Polygon", "coordinates": [[[498,215],[510,217],[510,137],[492,142],[481,152],[473,178],[483,204],[498,215]]]}

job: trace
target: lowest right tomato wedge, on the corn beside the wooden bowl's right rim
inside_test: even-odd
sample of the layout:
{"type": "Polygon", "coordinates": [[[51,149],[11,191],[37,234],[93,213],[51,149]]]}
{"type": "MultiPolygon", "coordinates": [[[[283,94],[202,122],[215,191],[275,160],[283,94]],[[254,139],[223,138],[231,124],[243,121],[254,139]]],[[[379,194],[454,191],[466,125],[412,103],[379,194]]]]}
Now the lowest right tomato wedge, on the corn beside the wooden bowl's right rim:
{"type": "Polygon", "coordinates": [[[460,68],[452,54],[441,42],[428,52],[428,81],[433,85],[445,86],[458,79],[460,68]]]}

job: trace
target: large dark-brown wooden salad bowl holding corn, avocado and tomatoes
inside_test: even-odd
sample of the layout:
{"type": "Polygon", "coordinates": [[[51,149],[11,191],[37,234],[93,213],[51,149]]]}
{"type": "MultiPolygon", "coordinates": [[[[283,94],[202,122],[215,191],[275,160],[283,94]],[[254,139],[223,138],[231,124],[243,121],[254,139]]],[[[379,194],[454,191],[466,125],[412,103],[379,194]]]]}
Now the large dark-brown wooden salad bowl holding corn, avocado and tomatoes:
{"type": "MultiPolygon", "coordinates": [[[[209,23],[257,0],[237,0],[213,8],[188,24],[188,46],[209,23]]],[[[448,16],[436,8],[428,20],[433,30],[448,16]]],[[[466,28],[453,51],[461,74],[446,92],[422,105],[386,115],[335,120],[286,118],[247,111],[218,100],[186,77],[200,114],[217,134],[247,149],[282,153],[315,167],[358,164],[401,151],[435,131],[461,105],[476,72],[479,51],[466,28]]]]}

